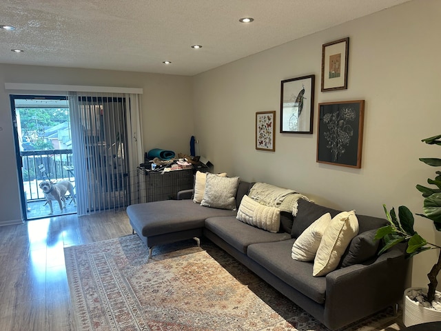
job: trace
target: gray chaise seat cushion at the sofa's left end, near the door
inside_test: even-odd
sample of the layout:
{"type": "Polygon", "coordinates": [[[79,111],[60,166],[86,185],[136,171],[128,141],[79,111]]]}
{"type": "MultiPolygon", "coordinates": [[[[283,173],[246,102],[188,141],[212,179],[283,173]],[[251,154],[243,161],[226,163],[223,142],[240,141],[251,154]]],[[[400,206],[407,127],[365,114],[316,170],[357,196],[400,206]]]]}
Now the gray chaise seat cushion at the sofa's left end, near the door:
{"type": "Polygon", "coordinates": [[[137,203],[127,207],[127,216],[144,237],[203,228],[207,217],[232,216],[236,211],[207,208],[192,200],[165,200],[137,203]]]}

